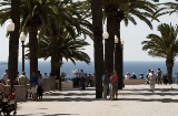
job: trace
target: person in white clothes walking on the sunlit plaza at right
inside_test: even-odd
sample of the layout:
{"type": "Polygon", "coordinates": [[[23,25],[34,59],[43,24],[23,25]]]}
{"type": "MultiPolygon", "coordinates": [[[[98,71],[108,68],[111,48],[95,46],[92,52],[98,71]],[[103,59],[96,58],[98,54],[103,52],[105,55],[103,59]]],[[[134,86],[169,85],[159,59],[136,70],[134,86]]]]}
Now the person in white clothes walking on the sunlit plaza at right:
{"type": "Polygon", "coordinates": [[[156,74],[154,73],[154,70],[148,75],[149,81],[150,81],[150,89],[152,93],[155,93],[155,80],[156,80],[156,74]]]}

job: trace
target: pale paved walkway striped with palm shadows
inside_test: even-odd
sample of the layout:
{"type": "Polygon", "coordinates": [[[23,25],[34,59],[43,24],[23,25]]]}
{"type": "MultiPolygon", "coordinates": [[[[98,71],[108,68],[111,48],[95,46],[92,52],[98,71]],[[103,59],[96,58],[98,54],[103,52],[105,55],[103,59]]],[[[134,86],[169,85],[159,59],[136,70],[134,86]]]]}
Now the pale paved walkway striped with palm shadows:
{"type": "Polygon", "coordinates": [[[177,116],[178,85],[126,85],[118,101],[95,98],[95,88],[53,91],[42,102],[18,103],[18,116],[177,116]],[[174,89],[170,89],[172,86],[174,89]]]}

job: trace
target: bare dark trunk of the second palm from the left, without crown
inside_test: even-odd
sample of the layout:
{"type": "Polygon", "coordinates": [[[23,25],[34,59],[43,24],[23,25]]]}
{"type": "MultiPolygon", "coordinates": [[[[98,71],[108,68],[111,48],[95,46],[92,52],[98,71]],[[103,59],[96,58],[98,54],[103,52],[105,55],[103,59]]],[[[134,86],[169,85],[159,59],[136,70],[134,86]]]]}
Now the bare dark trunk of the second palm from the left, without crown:
{"type": "Polygon", "coordinates": [[[29,49],[30,49],[30,81],[32,72],[38,73],[38,28],[29,27],[29,49]]]}

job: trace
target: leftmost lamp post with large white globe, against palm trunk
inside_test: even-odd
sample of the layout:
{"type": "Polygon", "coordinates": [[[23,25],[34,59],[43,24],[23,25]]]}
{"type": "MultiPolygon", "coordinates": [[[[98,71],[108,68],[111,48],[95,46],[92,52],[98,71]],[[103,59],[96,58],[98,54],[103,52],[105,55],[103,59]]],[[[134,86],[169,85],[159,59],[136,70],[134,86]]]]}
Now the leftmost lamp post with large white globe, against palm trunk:
{"type": "Polygon", "coordinates": [[[10,88],[13,88],[13,44],[10,42],[11,40],[11,32],[14,31],[14,23],[12,22],[11,19],[8,20],[7,23],[7,31],[10,32],[10,38],[9,38],[9,62],[8,62],[8,68],[9,68],[9,78],[10,78],[10,88]]]}

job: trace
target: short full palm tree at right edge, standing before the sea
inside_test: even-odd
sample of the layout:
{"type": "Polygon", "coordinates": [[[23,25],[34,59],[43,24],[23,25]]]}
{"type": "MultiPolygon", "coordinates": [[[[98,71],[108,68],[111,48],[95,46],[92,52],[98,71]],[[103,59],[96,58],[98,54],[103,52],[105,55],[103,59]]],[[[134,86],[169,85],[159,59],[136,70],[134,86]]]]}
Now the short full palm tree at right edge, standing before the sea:
{"type": "Polygon", "coordinates": [[[162,23],[157,29],[161,35],[149,34],[141,44],[144,51],[151,56],[166,59],[167,76],[171,83],[175,57],[178,55],[178,25],[162,23]]]}

